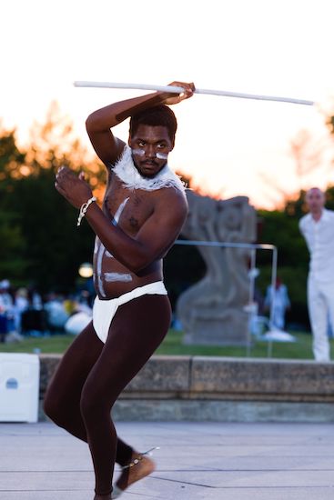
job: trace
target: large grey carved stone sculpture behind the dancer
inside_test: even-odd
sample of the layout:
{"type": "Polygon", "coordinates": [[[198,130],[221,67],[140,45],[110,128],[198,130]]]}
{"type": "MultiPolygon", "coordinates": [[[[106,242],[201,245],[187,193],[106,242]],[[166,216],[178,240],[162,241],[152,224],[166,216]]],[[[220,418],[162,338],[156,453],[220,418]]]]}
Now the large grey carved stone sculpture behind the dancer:
{"type": "MultiPolygon", "coordinates": [[[[248,197],[216,200],[187,191],[189,213],[182,236],[189,240],[252,243],[257,216],[248,197]]],[[[207,273],[177,300],[186,344],[246,345],[249,249],[197,245],[207,273]]]]}

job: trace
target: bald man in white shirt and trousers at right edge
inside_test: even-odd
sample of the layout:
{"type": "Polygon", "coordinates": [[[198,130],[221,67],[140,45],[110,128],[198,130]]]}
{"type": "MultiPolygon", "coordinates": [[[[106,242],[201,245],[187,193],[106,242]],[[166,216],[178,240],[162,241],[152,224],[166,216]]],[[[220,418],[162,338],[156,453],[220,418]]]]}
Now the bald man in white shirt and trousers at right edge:
{"type": "Polygon", "coordinates": [[[306,194],[309,214],[299,229],[309,248],[308,307],[316,361],[330,361],[329,322],[334,326],[334,212],[325,206],[325,194],[312,187],[306,194]]]}

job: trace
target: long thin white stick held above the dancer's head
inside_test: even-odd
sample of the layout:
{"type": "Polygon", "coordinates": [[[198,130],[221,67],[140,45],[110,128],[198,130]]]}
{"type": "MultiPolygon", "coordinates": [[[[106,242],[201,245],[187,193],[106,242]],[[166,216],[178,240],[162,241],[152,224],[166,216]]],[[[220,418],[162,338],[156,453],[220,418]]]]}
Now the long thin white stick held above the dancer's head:
{"type": "MultiPolygon", "coordinates": [[[[157,90],[161,92],[172,92],[179,94],[184,91],[183,87],[173,85],[146,85],[146,84],[120,84],[114,82],[86,82],[76,81],[74,83],[77,87],[97,87],[97,88],[134,88],[138,90],[157,90]]],[[[293,97],[280,97],[277,95],[256,95],[256,94],[243,94],[240,92],[229,92],[226,90],[210,90],[206,88],[197,88],[195,94],[207,95],[223,95],[225,97],[237,97],[238,99],[258,99],[259,101],[278,101],[281,103],[291,103],[293,105],[314,105],[314,101],[307,101],[305,99],[295,99],[293,97]]]]}

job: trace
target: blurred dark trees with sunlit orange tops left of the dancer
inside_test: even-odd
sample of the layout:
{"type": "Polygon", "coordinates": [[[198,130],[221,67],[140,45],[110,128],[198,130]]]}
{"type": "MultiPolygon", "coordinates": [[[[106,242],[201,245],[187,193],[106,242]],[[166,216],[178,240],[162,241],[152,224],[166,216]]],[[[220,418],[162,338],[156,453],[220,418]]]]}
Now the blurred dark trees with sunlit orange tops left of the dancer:
{"type": "Polygon", "coordinates": [[[95,187],[103,173],[101,165],[84,166],[86,152],[76,140],[66,143],[68,125],[57,137],[61,146],[53,145],[53,128],[52,120],[41,127],[38,142],[26,152],[17,148],[15,131],[2,131],[0,278],[13,285],[34,283],[42,292],[69,292],[79,265],[92,259],[94,234],[85,223],[76,228],[76,209],[55,189],[56,169],[68,165],[78,172],[92,167],[89,175],[95,187]]]}

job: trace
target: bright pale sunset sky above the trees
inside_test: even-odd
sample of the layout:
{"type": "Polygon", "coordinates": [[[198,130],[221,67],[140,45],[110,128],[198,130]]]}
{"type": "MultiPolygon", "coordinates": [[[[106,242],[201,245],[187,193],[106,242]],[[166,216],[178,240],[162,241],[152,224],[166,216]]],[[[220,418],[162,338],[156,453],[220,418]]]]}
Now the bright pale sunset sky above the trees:
{"type": "MultiPolygon", "coordinates": [[[[332,0],[11,0],[2,6],[0,119],[21,144],[56,100],[88,145],[86,116],[138,95],[75,88],[75,80],[193,81],[315,106],[195,95],[173,106],[170,165],[212,195],[273,207],[281,193],[334,184],[325,112],[334,102],[332,0]],[[290,143],[308,130],[319,166],[298,178],[290,143]]],[[[116,135],[127,140],[127,124],[116,135]]],[[[91,150],[91,149],[90,149],[91,150]]]]}

